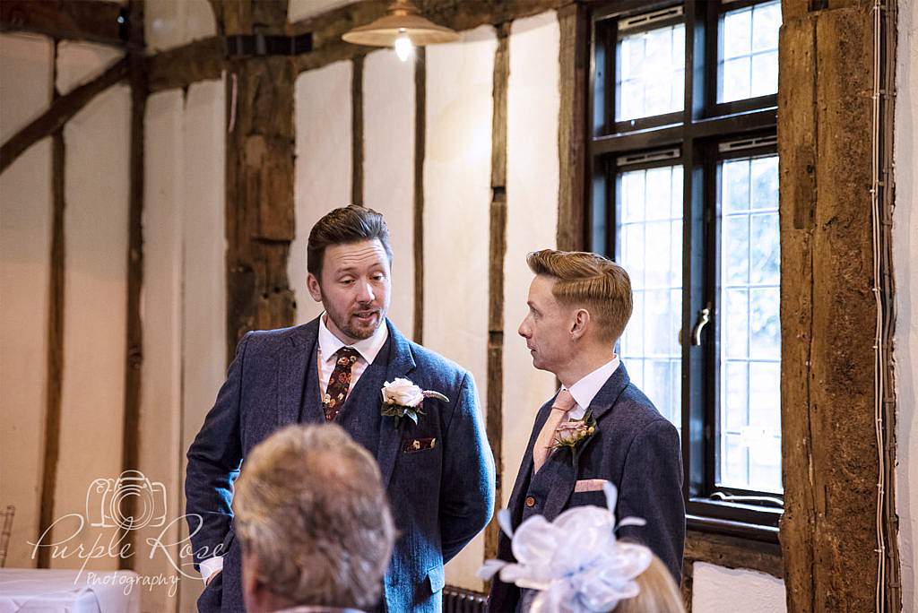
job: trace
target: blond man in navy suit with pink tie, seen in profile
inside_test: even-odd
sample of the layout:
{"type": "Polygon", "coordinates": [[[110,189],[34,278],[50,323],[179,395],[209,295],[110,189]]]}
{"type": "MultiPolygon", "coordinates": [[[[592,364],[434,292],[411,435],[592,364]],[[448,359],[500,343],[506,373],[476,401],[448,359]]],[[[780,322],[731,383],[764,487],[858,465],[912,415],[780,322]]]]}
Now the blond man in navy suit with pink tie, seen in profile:
{"type": "MultiPolygon", "coordinates": [[[[520,336],[532,365],[561,389],[539,410],[509,499],[512,526],[549,521],[570,507],[605,507],[602,485],[619,491],[616,515],[644,518],[621,537],[646,544],[678,582],[685,541],[682,456],[676,428],[628,378],[615,355],[632,314],[628,273],[595,253],[543,250],[527,258],[535,278],[520,336]]],[[[503,533],[498,557],[513,562],[503,533]]],[[[495,580],[492,611],[525,609],[531,594],[495,580]]]]}

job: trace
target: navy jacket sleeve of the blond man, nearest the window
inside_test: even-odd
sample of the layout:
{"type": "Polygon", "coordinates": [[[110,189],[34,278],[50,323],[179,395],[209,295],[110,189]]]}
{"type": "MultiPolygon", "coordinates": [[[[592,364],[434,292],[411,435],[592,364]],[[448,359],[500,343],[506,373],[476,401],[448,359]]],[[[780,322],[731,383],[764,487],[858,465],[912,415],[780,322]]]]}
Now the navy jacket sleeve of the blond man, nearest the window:
{"type": "Polygon", "coordinates": [[[646,526],[622,528],[619,536],[647,545],[678,585],[686,535],[682,453],[677,430],[666,419],[654,421],[634,437],[621,474],[615,515],[647,521],[646,526]]]}

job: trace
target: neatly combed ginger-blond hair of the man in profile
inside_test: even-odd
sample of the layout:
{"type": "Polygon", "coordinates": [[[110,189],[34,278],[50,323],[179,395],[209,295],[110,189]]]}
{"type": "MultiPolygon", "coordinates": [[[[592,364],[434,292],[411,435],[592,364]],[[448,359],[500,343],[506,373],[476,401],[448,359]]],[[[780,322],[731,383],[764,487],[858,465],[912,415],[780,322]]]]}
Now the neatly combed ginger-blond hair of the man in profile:
{"type": "Polygon", "coordinates": [[[543,249],[526,257],[533,273],[555,279],[552,294],[568,306],[584,306],[599,322],[603,340],[615,342],[631,319],[631,279],[617,263],[588,251],[543,249]]]}

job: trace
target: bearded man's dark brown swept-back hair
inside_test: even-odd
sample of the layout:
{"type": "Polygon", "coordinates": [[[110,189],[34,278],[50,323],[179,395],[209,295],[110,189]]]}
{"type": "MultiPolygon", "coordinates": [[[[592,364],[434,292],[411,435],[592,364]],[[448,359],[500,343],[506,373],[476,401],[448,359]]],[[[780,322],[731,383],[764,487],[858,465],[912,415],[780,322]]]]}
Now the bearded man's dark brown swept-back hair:
{"type": "Polygon", "coordinates": [[[321,281],[326,247],[374,239],[382,243],[391,264],[389,228],[386,227],[386,219],[380,213],[359,205],[341,206],[331,210],[319,219],[309,232],[306,269],[321,281]]]}

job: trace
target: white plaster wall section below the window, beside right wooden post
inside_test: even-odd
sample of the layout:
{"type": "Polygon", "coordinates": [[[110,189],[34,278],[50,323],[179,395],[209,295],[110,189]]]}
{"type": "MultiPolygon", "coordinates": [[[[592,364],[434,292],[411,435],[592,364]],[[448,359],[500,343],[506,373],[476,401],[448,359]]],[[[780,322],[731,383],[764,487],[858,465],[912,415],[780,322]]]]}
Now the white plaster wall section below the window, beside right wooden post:
{"type": "Polygon", "coordinates": [[[692,574],[692,613],[784,613],[784,582],[770,574],[696,562],[692,574]]]}

